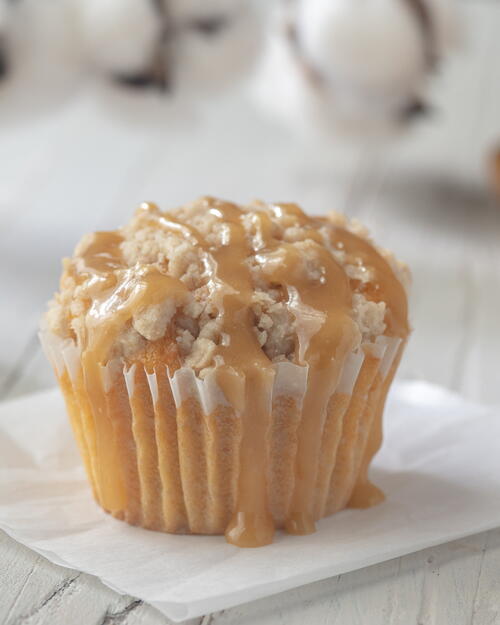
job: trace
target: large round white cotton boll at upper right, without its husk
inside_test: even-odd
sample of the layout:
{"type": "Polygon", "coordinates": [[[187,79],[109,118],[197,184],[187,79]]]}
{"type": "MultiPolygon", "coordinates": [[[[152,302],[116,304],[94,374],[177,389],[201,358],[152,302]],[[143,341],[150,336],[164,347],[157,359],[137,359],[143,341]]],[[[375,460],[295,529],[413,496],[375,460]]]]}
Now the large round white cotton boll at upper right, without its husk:
{"type": "Polygon", "coordinates": [[[296,13],[304,55],[336,85],[365,96],[418,93],[457,39],[451,0],[301,0],[296,13]],[[413,8],[412,8],[413,6],[413,8]]]}

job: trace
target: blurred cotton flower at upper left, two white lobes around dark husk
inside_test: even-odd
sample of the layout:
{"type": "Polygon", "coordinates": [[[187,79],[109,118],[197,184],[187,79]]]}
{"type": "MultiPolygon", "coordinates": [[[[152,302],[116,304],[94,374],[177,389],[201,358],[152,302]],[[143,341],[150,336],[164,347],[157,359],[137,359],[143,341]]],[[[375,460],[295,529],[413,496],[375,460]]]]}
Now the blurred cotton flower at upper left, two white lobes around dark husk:
{"type": "Polygon", "coordinates": [[[233,84],[260,48],[255,0],[85,0],[85,50],[110,77],[190,95],[233,84]]]}

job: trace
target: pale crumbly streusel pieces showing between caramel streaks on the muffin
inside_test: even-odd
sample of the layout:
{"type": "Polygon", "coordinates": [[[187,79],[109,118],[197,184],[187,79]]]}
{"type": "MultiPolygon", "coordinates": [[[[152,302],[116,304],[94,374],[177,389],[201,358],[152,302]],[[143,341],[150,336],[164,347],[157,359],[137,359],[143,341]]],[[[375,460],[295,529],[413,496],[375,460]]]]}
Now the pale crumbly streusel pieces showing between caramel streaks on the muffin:
{"type": "MultiPolygon", "coordinates": [[[[175,340],[181,361],[185,366],[201,372],[212,367],[217,345],[225,340],[220,302],[213,297],[209,264],[213,262],[210,250],[219,250],[228,244],[228,225],[211,214],[208,208],[216,200],[202,198],[187,206],[169,211],[176,227],[162,227],[162,213],[153,204],[143,204],[130,223],[117,231],[122,268],[139,272],[154,267],[162,274],[180,280],[186,287],[181,303],[166,297],[134,311],[113,342],[108,359],[124,357],[133,360],[150,341],[163,337],[175,340]],[[198,235],[205,246],[199,244],[198,235]],[[208,245],[208,252],[207,247],[208,245]]],[[[332,245],[332,228],[346,229],[368,239],[367,231],[355,221],[332,214],[327,218],[297,219],[279,205],[254,202],[244,211],[241,222],[248,241],[248,264],[253,282],[251,311],[254,332],[267,357],[277,362],[292,359],[297,343],[297,313],[289,304],[286,285],[269,279],[265,266],[259,260],[263,250],[261,230],[256,227],[256,215],[266,213],[270,218],[273,239],[292,245],[302,258],[311,285],[321,282],[323,268],[320,251],[327,249],[344,268],[350,279],[352,318],[359,330],[358,344],[373,341],[386,330],[386,303],[370,301],[364,295],[364,286],[373,279],[370,267],[357,259],[348,258],[344,250],[332,245]],[[318,236],[318,234],[320,236],[318,236]]],[[[89,311],[102,282],[95,280],[95,271],[86,266],[85,256],[94,243],[96,234],[83,237],[74,256],[64,261],[60,291],[50,302],[45,317],[46,327],[53,333],[78,340],[92,322],[89,311]]],[[[407,284],[408,272],[386,251],[378,252],[390,264],[401,282],[407,284]]],[[[113,271],[113,268],[108,269],[113,271]]],[[[335,285],[332,284],[332,289],[335,285]]]]}

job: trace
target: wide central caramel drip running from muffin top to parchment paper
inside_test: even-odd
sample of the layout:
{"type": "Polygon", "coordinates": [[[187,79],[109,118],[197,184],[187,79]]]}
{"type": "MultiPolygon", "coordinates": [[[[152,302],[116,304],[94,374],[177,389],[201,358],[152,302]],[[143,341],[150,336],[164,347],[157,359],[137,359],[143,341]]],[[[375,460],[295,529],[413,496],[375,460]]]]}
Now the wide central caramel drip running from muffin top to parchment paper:
{"type": "MultiPolygon", "coordinates": [[[[251,252],[241,218],[232,204],[217,203],[209,209],[227,232],[225,245],[212,252],[212,295],[224,315],[223,339],[216,358],[217,380],[242,419],[242,442],[236,511],[227,529],[228,542],[254,547],[272,542],[274,523],[267,500],[268,439],[271,425],[271,392],[274,370],[253,330],[251,301],[253,281],[246,260],[251,252]]],[[[262,230],[262,244],[270,241],[270,229],[262,230]]]]}

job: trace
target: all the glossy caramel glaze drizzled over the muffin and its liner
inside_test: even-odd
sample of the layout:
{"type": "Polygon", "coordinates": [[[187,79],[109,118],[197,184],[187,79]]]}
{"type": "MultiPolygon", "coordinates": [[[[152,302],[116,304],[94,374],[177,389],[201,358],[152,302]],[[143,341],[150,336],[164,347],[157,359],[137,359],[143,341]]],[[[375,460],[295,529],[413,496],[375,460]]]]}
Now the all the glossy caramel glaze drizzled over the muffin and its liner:
{"type": "MultiPolygon", "coordinates": [[[[204,202],[206,211],[224,224],[224,241],[219,246],[210,246],[200,232],[161,212],[154,204],[143,204],[139,210],[158,228],[180,232],[203,250],[211,301],[223,320],[223,338],[215,356],[217,381],[242,422],[237,500],[226,539],[238,546],[254,547],[271,542],[275,529],[267,485],[274,367],[254,331],[254,286],[248,258],[255,256],[269,282],[282,290],[290,310],[297,310],[297,306],[306,308],[321,319],[319,329],[305,345],[297,340],[294,353],[294,362],[308,367],[308,388],[298,430],[295,486],[285,522],[285,529],[295,534],[315,529],[311,493],[320,453],[318,432],[323,428],[327,404],[345,358],[358,337],[351,317],[353,291],[361,291],[374,301],[385,301],[386,334],[403,338],[408,334],[406,295],[388,263],[367,241],[328,220],[307,217],[294,204],[271,205],[270,212],[277,218],[285,217],[290,225],[306,228],[306,238],[319,243],[322,275],[316,280],[308,275],[297,247],[274,234],[270,212],[252,212],[254,236],[249,237],[242,221],[246,211],[212,198],[204,202]],[[346,253],[348,262],[373,273],[370,283],[349,280],[343,267],[324,247],[320,226],[325,225],[331,244],[346,253]]],[[[96,233],[79,251],[78,262],[67,269],[79,284],[85,284],[89,297],[86,323],[76,338],[82,350],[83,384],[96,424],[98,452],[99,446],[110,439],[111,429],[110,416],[100,399],[105,392],[100,367],[111,357],[114,341],[130,324],[134,313],[166,298],[173,298],[181,307],[188,297],[184,283],[166,275],[157,265],[127,267],[121,254],[122,240],[119,231],[96,233]]],[[[99,498],[109,510],[118,510],[126,503],[116,453],[109,449],[98,453],[99,498]]]]}

